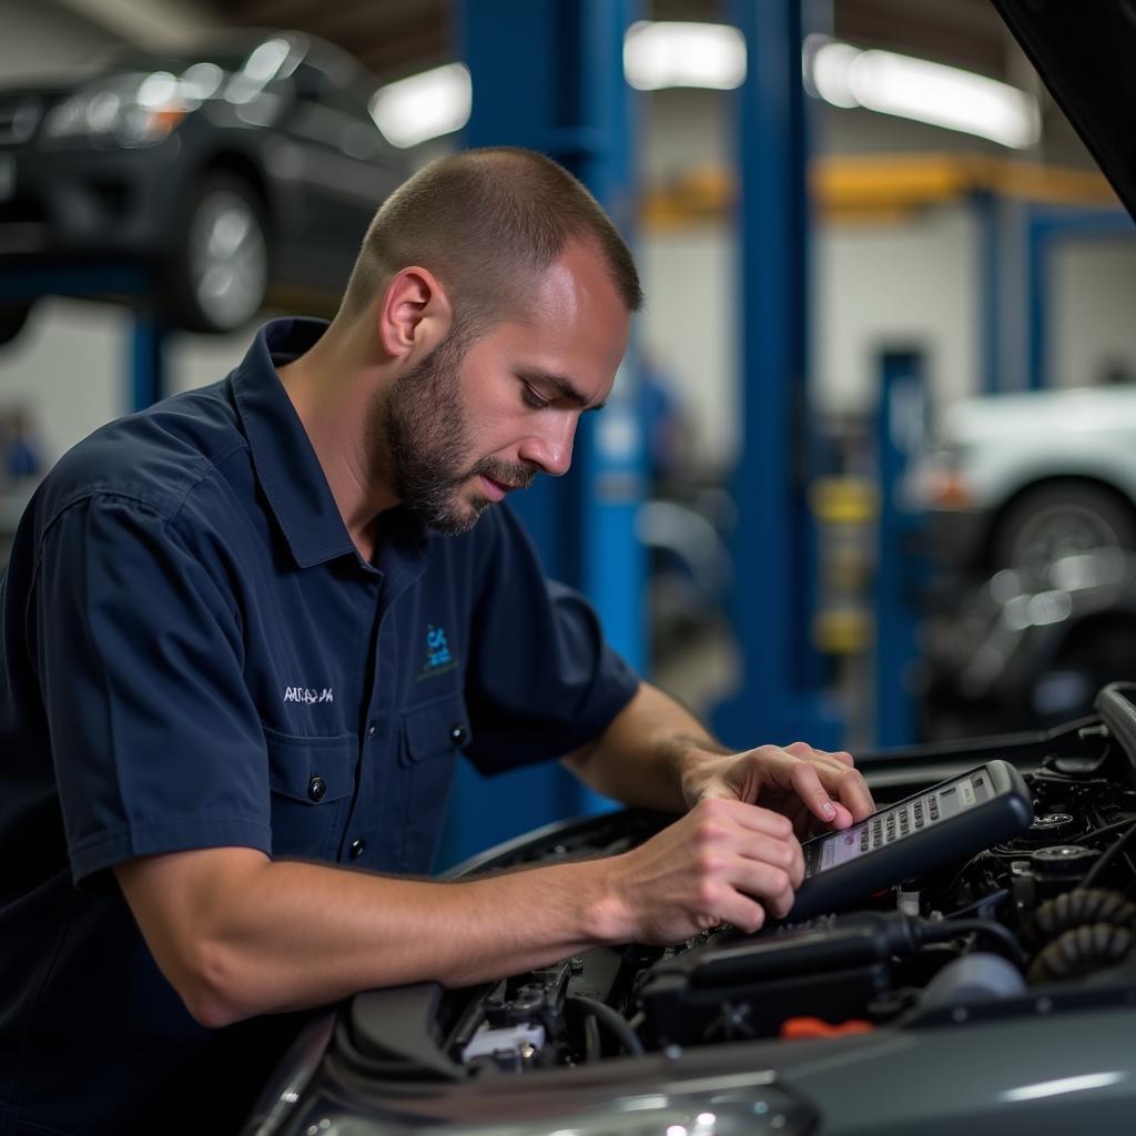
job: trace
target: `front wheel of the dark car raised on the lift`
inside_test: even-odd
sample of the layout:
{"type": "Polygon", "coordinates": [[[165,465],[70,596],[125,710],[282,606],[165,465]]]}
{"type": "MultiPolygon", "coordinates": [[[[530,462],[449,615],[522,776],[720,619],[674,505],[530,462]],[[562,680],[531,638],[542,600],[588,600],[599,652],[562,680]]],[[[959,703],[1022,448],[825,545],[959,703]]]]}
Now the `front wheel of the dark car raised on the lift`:
{"type": "Polygon", "coordinates": [[[208,175],[186,200],[169,265],[167,318],[195,332],[231,332],[264,307],[268,225],[260,195],[242,177],[208,175]]]}

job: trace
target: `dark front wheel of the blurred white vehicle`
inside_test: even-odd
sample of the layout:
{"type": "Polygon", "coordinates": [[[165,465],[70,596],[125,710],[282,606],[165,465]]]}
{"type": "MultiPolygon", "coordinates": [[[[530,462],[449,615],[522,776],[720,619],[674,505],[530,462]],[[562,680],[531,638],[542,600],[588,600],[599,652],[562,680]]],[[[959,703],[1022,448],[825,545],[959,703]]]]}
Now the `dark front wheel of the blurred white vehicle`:
{"type": "Polygon", "coordinates": [[[1016,498],[991,542],[991,567],[1041,577],[1062,556],[1136,549],[1136,511],[1119,493],[1081,482],[1038,485],[1016,498]]]}

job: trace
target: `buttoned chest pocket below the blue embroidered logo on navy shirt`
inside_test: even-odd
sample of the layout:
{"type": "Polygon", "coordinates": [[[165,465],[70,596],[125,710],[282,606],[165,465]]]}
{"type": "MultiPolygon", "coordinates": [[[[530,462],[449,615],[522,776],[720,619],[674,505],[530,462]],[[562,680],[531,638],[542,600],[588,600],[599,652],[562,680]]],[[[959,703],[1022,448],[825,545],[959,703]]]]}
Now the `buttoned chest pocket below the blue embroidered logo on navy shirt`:
{"type": "Polygon", "coordinates": [[[402,713],[400,780],[406,828],[399,870],[427,872],[437,851],[460,752],[473,741],[460,694],[402,713]]]}

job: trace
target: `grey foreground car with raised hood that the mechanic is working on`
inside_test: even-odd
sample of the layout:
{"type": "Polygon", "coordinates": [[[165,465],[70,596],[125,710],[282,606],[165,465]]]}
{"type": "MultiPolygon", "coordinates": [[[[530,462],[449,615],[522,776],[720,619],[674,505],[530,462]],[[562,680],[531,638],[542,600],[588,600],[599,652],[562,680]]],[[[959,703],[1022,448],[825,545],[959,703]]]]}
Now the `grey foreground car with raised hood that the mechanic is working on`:
{"type": "MultiPolygon", "coordinates": [[[[1136,209],[1133,5],[995,3],[1136,209]]],[[[1093,602],[1126,570],[1099,567],[1066,563],[1041,599],[1008,590],[997,603],[1021,623],[1062,603],[1049,593],[1093,602]]],[[[1050,729],[858,763],[882,812],[807,862],[859,872],[859,891],[829,889],[755,935],[718,927],[463,989],[359,994],[310,1018],[244,1136],[1130,1130],[1136,683],[1110,683],[1091,715],[1050,729]],[[992,816],[1010,800],[995,779],[1016,786],[1012,829],[961,838],[939,825],[992,816]],[[863,864],[889,847],[892,878],[869,879],[863,864]]],[[[566,821],[457,875],[618,855],[665,822],[566,821]]]]}

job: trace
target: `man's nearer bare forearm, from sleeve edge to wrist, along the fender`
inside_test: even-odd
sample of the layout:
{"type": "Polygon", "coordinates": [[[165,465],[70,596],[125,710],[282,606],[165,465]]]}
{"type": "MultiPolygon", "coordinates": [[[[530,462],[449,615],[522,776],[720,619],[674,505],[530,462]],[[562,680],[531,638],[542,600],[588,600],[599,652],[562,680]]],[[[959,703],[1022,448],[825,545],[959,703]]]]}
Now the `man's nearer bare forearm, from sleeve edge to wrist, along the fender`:
{"type": "Polygon", "coordinates": [[[220,1026],[376,986],[468,985],[627,938],[605,863],[444,884],[219,849],[119,878],[166,977],[220,1026]]]}

